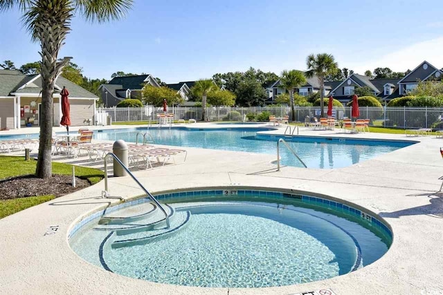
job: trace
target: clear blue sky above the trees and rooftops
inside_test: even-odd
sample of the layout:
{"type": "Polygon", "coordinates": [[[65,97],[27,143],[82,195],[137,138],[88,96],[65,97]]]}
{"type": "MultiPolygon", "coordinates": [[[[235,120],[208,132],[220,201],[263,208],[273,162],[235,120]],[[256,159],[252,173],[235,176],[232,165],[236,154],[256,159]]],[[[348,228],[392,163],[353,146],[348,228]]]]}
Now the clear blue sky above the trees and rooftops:
{"type": "MultiPolygon", "coordinates": [[[[364,73],[377,66],[443,67],[443,2],[393,1],[145,1],[123,21],[88,23],[77,16],[60,57],[84,75],[109,79],[123,70],[174,83],[247,70],[278,75],[305,70],[309,53],[331,53],[338,66],[364,73]]],[[[18,10],[0,14],[0,61],[39,59],[18,10]]]]}

